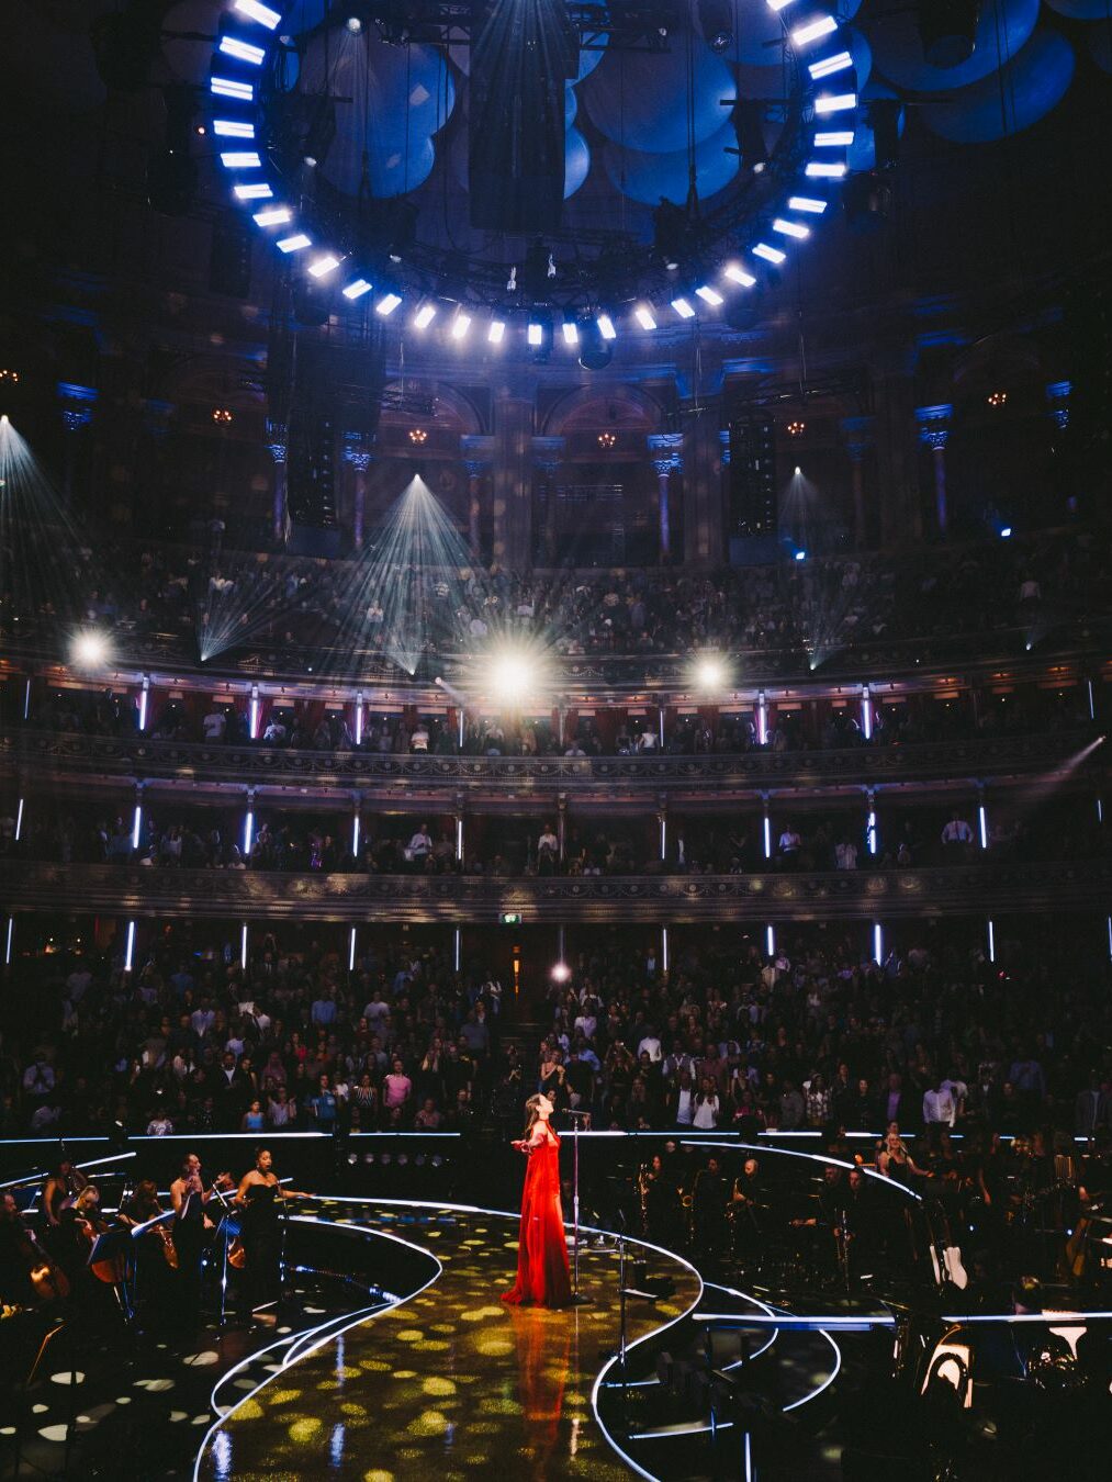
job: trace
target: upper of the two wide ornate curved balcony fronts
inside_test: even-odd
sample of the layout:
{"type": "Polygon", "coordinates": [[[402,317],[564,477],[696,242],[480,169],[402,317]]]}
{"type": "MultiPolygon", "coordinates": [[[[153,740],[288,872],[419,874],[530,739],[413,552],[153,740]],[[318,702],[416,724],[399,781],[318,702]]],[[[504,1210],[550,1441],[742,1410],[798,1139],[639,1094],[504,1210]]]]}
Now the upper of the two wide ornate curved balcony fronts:
{"type": "Polygon", "coordinates": [[[990,778],[1065,768],[1093,740],[1090,731],[1050,731],[1027,737],[931,741],[918,745],[850,747],[838,751],[746,751],[737,756],[488,757],[380,754],[368,751],[294,751],[267,745],[205,745],[147,737],[82,737],[52,731],[13,731],[0,741],[0,765],[39,775],[80,774],[120,778],[173,778],[246,784],[360,788],[399,794],[439,788],[480,793],[497,787],[538,796],[592,788],[620,793],[735,793],[764,788],[931,781],[947,777],[990,778]]]}

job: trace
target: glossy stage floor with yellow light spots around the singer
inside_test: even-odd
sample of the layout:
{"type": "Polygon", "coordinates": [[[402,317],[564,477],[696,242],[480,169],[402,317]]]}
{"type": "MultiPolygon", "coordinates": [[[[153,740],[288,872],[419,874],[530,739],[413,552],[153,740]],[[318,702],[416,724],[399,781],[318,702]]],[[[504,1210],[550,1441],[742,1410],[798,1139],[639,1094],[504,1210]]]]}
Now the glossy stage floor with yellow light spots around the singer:
{"type": "MultiPolygon", "coordinates": [[[[197,1475],[442,1482],[501,1473],[592,1478],[629,1473],[602,1435],[590,1392],[618,1335],[618,1261],[581,1255],[589,1304],[566,1312],[510,1309],[516,1220],[360,1205],[360,1224],[434,1254],[440,1275],[412,1300],[360,1322],[230,1411],[206,1438],[197,1475]]],[[[652,1257],[675,1295],[632,1304],[639,1338],[700,1295],[689,1267],[652,1257]]]]}

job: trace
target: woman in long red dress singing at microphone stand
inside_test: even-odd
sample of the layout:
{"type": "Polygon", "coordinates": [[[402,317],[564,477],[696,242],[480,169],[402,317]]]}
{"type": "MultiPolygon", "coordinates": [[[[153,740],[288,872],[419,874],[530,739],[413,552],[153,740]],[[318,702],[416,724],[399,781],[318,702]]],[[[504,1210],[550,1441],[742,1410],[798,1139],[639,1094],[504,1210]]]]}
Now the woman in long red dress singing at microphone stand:
{"type": "Polygon", "coordinates": [[[528,1157],[517,1237],[517,1280],[513,1291],[503,1295],[503,1301],[513,1303],[514,1307],[525,1303],[566,1307],[571,1303],[571,1276],[560,1209],[560,1140],[549,1126],[553,1106],[546,1095],[529,1097],[525,1110],[529,1114],[525,1137],[513,1144],[528,1157]]]}

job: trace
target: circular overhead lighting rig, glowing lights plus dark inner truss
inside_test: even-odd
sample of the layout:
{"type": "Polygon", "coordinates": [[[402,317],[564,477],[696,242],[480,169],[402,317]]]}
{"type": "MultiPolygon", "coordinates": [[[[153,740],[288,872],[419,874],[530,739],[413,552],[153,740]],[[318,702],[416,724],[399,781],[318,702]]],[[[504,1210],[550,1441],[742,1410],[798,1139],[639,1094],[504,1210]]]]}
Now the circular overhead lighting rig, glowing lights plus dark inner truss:
{"type": "MultiPolygon", "coordinates": [[[[832,13],[832,0],[753,3],[765,4],[783,27],[789,80],[789,96],[778,105],[783,126],[768,159],[743,170],[735,188],[719,191],[721,202],[685,218],[678,250],[666,253],[626,237],[592,255],[590,243],[575,242],[569,261],[532,293],[519,292],[516,268],[507,279],[504,259],[469,256],[417,240],[388,255],[374,255],[360,246],[353,213],[302,205],[299,190],[283,178],[268,145],[268,111],[282,92],[288,65],[298,59],[298,41],[289,34],[298,9],[289,0],[274,0],[273,6],[224,0],[209,77],[212,135],[233,200],[251,212],[274,249],[308,279],[335,283],[348,304],[366,299],[383,319],[402,304],[411,305],[397,319],[403,332],[414,326],[420,332],[418,320],[428,323],[433,317],[421,314],[420,305],[437,305],[452,316],[457,339],[473,317],[482,316],[483,339],[494,348],[520,342],[534,353],[547,353],[553,314],[565,323],[593,320],[602,341],[617,338],[620,330],[652,333],[661,323],[676,328],[691,319],[713,319],[729,296],[753,289],[770,270],[780,268],[805,246],[848,172],[847,153],[861,111],[848,28],[832,13]],[[283,25],[286,16],[289,27],[283,25]]],[[[397,34],[397,7],[390,0],[360,0],[357,9],[354,16],[340,7],[322,24],[357,34],[369,22],[383,34],[388,31],[391,41],[431,41],[445,55],[461,28],[458,7],[433,0],[421,10],[420,24],[403,22],[397,34]]],[[[643,10],[643,4],[609,0],[578,22],[572,12],[572,22],[584,37],[598,40],[600,30],[609,27],[617,36],[633,12],[643,10]]],[[[652,40],[667,47],[669,37],[666,27],[652,40]]],[[[562,336],[574,354],[578,338],[562,336]]]]}

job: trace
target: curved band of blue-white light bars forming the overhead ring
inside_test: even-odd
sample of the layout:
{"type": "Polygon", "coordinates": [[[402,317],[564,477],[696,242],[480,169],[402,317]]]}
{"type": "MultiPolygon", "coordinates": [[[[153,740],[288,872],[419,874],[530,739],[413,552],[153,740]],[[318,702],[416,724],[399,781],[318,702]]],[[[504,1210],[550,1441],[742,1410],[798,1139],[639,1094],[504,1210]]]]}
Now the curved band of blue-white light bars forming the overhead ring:
{"type": "MultiPolygon", "coordinates": [[[[623,328],[651,332],[657,329],[658,316],[666,314],[673,325],[694,320],[718,310],[729,295],[755,288],[770,268],[781,267],[807,242],[830,206],[832,190],[847,175],[847,151],[854,142],[860,113],[854,62],[854,46],[860,50],[860,44],[855,33],[832,13],[830,0],[764,0],[764,4],[771,12],[768,24],[783,27],[787,44],[807,71],[808,89],[814,87],[805,123],[807,157],[799,165],[799,178],[781,200],[778,213],[772,213],[761,228],[761,240],[749,243],[734,261],[722,262],[715,270],[713,282],[679,280],[669,305],[655,301],[636,304],[629,311],[627,323],[620,320],[623,328]]],[[[294,13],[285,0],[283,9],[262,0],[224,0],[209,90],[212,133],[228,173],[231,197],[252,213],[271,245],[305,273],[308,283],[342,285],[340,292],[348,302],[374,295],[375,313],[385,319],[405,302],[402,279],[372,282],[366,276],[371,270],[360,267],[357,255],[329,243],[326,233],[319,233],[311,219],[302,218],[294,193],[279,181],[262,147],[261,80],[282,46],[283,10],[294,13]]],[[[479,313],[486,313],[461,302],[449,305],[445,301],[439,307],[452,313],[451,335],[457,341],[467,336],[479,313]]],[[[427,301],[426,325],[434,313],[436,305],[427,301]]],[[[507,319],[497,317],[501,313],[491,314],[482,326],[491,345],[501,345],[506,339],[507,319]]],[[[526,345],[538,348],[544,326],[528,323],[528,311],[519,317],[526,345]]],[[[617,338],[618,325],[605,305],[598,307],[595,319],[603,339],[617,338]]],[[[565,335],[563,342],[578,354],[578,335],[565,335]]]]}

